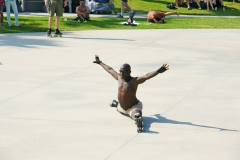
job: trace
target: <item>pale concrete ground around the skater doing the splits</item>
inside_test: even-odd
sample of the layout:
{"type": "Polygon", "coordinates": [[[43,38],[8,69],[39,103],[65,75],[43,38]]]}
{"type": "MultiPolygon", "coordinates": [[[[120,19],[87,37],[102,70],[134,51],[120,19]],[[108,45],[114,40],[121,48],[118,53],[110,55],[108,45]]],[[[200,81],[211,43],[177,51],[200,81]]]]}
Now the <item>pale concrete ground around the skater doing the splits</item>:
{"type": "Polygon", "coordinates": [[[239,160],[240,30],[0,34],[0,160],[239,160]],[[139,85],[144,133],[108,106],[117,81],[139,85]]]}

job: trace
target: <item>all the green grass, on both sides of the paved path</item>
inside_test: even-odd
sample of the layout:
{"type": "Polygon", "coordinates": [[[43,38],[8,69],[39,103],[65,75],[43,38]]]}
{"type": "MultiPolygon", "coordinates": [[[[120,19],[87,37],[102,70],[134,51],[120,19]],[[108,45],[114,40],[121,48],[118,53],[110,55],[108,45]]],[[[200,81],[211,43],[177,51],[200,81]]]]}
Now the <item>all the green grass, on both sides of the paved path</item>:
{"type": "MultiPolygon", "coordinates": [[[[120,11],[121,0],[115,0],[114,4],[117,11],[120,11]]],[[[166,8],[166,4],[172,0],[132,0],[129,5],[137,11],[137,13],[147,14],[150,10],[157,11],[173,11],[166,8]]],[[[180,15],[218,15],[218,16],[240,16],[240,3],[232,3],[231,1],[224,1],[226,11],[207,11],[192,9],[187,10],[186,7],[175,9],[180,15]]],[[[127,11],[126,11],[127,12],[127,11]]],[[[91,16],[91,15],[90,15],[91,16]]],[[[62,17],[60,30],[61,31],[81,31],[81,30],[106,30],[106,29],[200,29],[200,28],[240,28],[240,18],[166,18],[164,24],[147,23],[146,19],[135,18],[139,23],[138,26],[130,27],[124,26],[120,23],[126,19],[118,18],[91,18],[91,21],[84,23],[74,23],[64,21],[64,18],[73,19],[75,17],[62,17]]],[[[22,28],[0,28],[1,33],[21,33],[21,32],[46,32],[48,26],[48,17],[26,17],[19,16],[22,28]]],[[[12,17],[14,22],[14,17],[12,17]]],[[[54,20],[55,24],[55,20],[54,20]]],[[[6,17],[4,17],[4,26],[7,25],[6,17]]],[[[53,25],[54,26],[54,25],[53,25]]]]}

